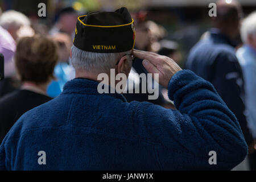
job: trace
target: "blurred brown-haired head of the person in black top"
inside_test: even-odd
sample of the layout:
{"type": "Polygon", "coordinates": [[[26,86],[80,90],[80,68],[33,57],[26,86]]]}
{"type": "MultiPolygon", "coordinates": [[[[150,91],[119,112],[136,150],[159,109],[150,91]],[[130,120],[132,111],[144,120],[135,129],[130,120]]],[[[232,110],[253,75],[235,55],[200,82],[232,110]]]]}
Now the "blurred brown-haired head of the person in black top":
{"type": "Polygon", "coordinates": [[[45,84],[52,80],[58,53],[51,38],[40,35],[20,38],[14,57],[21,81],[45,84]]]}

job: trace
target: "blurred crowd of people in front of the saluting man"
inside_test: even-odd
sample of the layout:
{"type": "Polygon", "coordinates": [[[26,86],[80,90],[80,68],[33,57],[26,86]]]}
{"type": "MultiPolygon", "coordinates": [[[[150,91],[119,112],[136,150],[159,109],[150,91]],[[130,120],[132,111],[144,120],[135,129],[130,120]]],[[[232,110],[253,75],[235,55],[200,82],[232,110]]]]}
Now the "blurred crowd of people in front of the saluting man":
{"type": "MultiPolygon", "coordinates": [[[[132,13],[135,49],[168,56],[212,82],[236,115],[249,146],[248,157],[237,169],[255,170],[256,11],[244,16],[237,1],[219,1],[217,7],[212,28],[201,36],[187,57],[181,55],[179,42],[166,39],[163,26],[147,19],[146,11],[132,13]],[[242,42],[236,41],[238,37],[242,42]]],[[[0,142],[23,113],[59,96],[65,83],[75,78],[69,55],[77,17],[82,14],[86,13],[65,7],[47,27],[15,10],[0,13],[0,53],[5,57],[5,79],[0,81],[0,142]]],[[[131,72],[147,73],[142,60],[135,59],[131,72]]],[[[134,84],[142,86],[140,81],[134,84]]],[[[129,102],[148,101],[175,109],[167,89],[159,85],[159,90],[157,100],[148,100],[150,93],[124,96],[129,102]]]]}

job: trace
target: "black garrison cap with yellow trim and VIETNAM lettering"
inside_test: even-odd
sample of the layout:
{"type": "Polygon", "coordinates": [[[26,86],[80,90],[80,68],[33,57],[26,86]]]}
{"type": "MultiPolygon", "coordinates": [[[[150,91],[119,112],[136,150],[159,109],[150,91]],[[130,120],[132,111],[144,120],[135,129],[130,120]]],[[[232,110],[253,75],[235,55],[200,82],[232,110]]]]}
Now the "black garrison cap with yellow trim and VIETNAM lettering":
{"type": "Polygon", "coordinates": [[[79,16],[74,46],[89,52],[125,52],[135,42],[134,20],[126,7],[114,12],[92,12],[79,16]]]}

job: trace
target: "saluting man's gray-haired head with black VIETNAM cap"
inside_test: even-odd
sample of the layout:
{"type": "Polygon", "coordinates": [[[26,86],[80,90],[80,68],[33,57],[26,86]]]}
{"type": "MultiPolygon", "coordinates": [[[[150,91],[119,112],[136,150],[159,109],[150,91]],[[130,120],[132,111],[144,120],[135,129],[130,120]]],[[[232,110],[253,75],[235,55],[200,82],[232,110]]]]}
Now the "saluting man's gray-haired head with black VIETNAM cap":
{"type": "MultiPolygon", "coordinates": [[[[87,73],[109,73],[134,47],[133,19],[127,9],[93,12],[77,20],[71,63],[87,73]]],[[[126,64],[131,67],[127,56],[126,64]]]]}

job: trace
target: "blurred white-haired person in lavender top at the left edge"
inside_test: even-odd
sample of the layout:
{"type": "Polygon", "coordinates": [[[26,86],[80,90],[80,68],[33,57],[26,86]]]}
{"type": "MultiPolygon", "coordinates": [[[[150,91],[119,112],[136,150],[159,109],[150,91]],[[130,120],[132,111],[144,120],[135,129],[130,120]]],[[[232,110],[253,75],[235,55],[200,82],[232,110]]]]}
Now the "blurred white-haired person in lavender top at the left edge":
{"type": "Polygon", "coordinates": [[[26,15],[9,10],[0,16],[0,52],[5,56],[5,79],[0,82],[0,97],[18,89],[20,82],[16,78],[13,55],[18,38],[34,35],[30,20],[26,15]]]}

